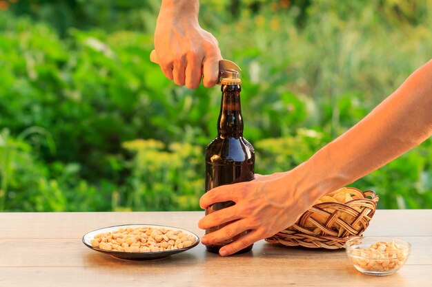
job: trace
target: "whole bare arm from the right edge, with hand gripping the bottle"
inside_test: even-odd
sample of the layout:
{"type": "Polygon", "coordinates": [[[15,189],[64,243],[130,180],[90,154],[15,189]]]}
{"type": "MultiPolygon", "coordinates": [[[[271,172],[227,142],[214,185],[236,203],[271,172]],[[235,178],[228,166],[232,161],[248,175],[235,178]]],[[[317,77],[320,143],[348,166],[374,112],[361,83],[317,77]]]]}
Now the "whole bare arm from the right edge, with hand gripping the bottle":
{"type": "Polygon", "coordinates": [[[200,228],[234,221],[202,238],[204,244],[250,233],[224,246],[233,254],[291,226],[315,200],[382,167],[432,136],[432,61],[415,71],[357,125],[291,171],[262,176],[208,191],[202,208],[214,202],[236,204],[207,215],[200,228]]]}

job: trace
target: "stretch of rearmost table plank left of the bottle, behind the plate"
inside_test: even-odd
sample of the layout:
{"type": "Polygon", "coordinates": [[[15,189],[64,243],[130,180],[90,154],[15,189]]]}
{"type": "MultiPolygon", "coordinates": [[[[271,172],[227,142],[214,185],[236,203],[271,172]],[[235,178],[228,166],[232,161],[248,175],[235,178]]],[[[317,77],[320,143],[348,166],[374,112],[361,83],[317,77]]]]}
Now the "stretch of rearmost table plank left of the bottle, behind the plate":
{"type": "Polygon", "coordinates": [[[81,238],[98,228],[119,224],[160,224],[204,235],[198,228],[204,211],[116,213],[1,213],[0,238],[81,238]]]}

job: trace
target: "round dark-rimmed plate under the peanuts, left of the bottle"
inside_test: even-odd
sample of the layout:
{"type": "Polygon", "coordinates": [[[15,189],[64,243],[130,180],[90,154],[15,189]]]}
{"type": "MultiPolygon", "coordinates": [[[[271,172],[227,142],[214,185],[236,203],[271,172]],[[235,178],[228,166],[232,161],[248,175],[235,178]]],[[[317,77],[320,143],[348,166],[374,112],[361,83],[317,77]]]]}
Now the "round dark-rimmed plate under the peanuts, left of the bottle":
{"type": "Polygon", "coordinates": [[[104,228],[97,229],[95,231],[90,231],[89,233],[86,233],[86,235],[83,236],[83,243],[86,244],[86,246],[88,248],[91,248],[95,251],[99,251],[101,253],[106,253],[108,255],[112,255],[112,256],[117,257],[117,258],[128,259],[128,260],[151,260],[151,259],[164,258],[164,257],[170,256],[170,255],[176,254],[176,253],[181,253],[181,252],[187,251],[188,249],[197,246],[197,244],[199,243],[199,237],[195,233],[192,233],[190,231],[187,231],[187,230],[184,230],[181,228],[177,228],[177,227],[152,225],[152,224],[124,224],[124,225],[104,227],[104,228]],[[180,249],[169,250],[169,251],[159,251],[159,252],[108,251],[108,250],[101,249],[99,247],[92,246],[92,244],[90,243],[90,240],[92,240],[95,237],[95,235],[97,235],[99,233],[117,231],[121,227],[122,228],[126,228],[126,227],[137,228],[137,227],[144,227],[144,226],[148,226],[148,227],[152,227],[152,228],[166,228],[166,229],[175,230],[175,231],[178,230],[178,231],[181,231],[182,233],[193,236],[195,238],[195,242],[193,242],[193,244],[191,246],[188,246],[186,248],[180,248],[180,249]]]}

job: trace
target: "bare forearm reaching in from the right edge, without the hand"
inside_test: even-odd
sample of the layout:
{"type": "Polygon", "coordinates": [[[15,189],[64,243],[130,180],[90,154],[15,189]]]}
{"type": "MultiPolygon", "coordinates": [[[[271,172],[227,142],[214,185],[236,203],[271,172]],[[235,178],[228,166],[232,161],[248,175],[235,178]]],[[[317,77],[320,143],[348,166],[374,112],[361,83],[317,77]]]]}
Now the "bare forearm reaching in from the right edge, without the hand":
{"type": "Polygon", "coordinates": [[[295,170],[296,190],[314,202],[382,167],[432,135],[432,61],[342,136],[295,170]],[[304,192],[306,191],[306,192],[304,192]]]}

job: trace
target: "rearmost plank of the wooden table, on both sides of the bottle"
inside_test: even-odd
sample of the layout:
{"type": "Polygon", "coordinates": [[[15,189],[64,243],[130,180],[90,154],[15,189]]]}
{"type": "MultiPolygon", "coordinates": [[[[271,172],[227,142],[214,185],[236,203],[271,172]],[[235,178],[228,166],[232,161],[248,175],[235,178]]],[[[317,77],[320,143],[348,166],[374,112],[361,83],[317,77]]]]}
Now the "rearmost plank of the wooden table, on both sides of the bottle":
{"type": "MultiPolygon", "coordinates": [[[[197,227],[197,222],[202,216],[204,211],[1,213],[0,238],[79,238],[97,228],[134,223],[176,226],[202,236],[204,232],[197,227]]],[[[364,235],[429,236],[432,235],[430,222],[432,222],[432,209],[380,209],[375,213],[364,235]]]]}

